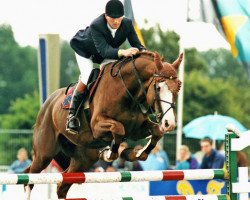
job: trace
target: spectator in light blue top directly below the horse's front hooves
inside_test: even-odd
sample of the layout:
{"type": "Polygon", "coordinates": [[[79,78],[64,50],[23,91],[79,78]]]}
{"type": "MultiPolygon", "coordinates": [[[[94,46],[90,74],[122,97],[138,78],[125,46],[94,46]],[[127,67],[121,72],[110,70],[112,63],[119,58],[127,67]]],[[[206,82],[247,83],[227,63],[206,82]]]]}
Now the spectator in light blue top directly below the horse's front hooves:
{"type": "Polygon", "coordinates": [[[147,160],[139,161],[144,171],[148,170],[166,170],[169,168],[169,159],[167,153],[157,144],[148,155],[147,160]]]}

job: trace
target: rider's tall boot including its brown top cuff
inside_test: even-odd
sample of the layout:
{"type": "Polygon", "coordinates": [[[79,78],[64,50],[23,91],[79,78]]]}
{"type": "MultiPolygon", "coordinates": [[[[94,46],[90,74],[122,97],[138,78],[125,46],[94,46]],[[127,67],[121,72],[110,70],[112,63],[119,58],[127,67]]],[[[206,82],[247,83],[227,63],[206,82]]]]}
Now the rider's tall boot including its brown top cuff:
{"type": "Polygon", "coordinates": [[[70,103],[68,121],[66,124],[66,131],[71,134],[79,133],[80,120],[78,119],[77,114],[78,110],[80,109],[80,104],[84,104],[84,101],[87,98],[87,93],[87,86],[83,84],[81,80],[79,80],[70,103]]]}

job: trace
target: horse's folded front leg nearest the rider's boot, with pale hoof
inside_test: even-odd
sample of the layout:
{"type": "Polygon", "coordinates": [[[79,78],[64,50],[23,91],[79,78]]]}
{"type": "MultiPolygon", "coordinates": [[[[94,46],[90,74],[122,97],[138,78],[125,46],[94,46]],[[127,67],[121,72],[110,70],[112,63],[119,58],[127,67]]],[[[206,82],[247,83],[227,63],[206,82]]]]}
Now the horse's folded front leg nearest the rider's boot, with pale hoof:
{"type": "Polygon", "coordinates": [[[118,149],[125,136],[125,129],[122,123],[111,118],[98,117],[99,120],[93,125],[93,136],[95,139],[105,137],[107,133],[112,133],[113,140],[111,146],[100,152],[100,159],[112,162],[118,158],[118,149]]]}

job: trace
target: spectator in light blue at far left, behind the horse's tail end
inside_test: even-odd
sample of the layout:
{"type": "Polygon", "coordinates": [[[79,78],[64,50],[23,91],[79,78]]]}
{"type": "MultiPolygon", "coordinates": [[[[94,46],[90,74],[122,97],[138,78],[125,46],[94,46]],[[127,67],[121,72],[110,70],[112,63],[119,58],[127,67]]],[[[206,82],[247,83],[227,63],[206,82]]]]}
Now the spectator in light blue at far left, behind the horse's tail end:
{"type": "Polygon", "coordinates": [[[10,172],[23,173],[30,164],[31,160],[28,158],[27,150],[25,148],[21,148],[17,152],[17,160],[15,160],[10,166],[10,172]]]}

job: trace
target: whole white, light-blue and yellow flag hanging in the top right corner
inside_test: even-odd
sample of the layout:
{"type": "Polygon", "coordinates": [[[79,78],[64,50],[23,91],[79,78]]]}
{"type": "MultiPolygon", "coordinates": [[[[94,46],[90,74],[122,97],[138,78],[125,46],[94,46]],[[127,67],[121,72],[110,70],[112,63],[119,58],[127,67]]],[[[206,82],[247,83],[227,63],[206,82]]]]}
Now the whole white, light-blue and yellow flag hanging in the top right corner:
{"type": "Polygon", "coordinates": [[[250,0],[188,0],[188,21],[214,24],[250,80],[250,0]]]}

